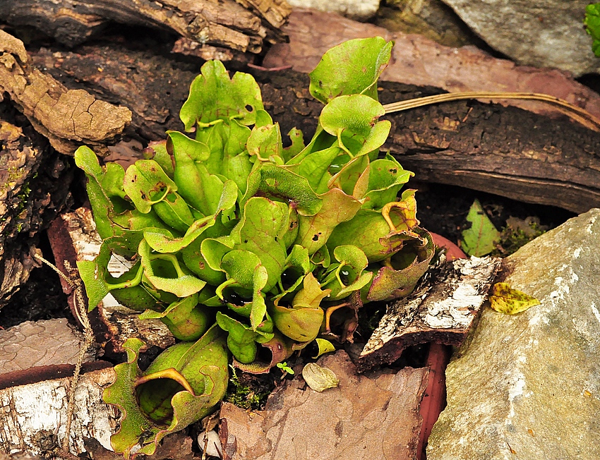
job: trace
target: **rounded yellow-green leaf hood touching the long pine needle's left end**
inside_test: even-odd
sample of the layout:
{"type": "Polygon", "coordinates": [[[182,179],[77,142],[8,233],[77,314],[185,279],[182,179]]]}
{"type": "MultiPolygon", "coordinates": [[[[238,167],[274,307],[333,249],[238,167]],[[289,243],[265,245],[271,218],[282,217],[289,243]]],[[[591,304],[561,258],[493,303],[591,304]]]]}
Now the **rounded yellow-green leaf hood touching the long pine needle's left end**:
{"type": "Polygon", "coordinates": [[[337,137],[340,147],[349,155],[365,155],[385,143],[390,133],[383,106],[365,95],[340,96],[332,99],[319,116],[319,124],[337,137]]]}

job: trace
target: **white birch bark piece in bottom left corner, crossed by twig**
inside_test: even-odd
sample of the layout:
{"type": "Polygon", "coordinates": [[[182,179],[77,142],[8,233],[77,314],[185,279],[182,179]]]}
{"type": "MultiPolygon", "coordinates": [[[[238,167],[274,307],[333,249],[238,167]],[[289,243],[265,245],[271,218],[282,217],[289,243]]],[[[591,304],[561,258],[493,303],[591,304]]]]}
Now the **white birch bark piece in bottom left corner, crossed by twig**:
{"type": "MultiPolygon", "coordinates": [[[[102,390],[114,382],[114,370],[104,368],[80,377],[75,393],[69,447],[71,453],[85,452],[83,440],[95,438],[110,449],[110,435],[120,416],[102,401],[102,390]]],[[[31,450],[54,456],[65,437],[70,377],[0,389],[0,450],[31,450]]]]}

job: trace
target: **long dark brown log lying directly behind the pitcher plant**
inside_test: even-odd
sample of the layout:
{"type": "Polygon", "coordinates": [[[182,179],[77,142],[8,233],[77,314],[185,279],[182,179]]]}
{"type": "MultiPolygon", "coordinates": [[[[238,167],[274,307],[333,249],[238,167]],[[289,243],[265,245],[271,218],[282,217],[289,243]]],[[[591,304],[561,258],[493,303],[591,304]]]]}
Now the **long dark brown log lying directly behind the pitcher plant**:
{"type": "MultiPolygon", "coordinates": [[[[42,49],[33,59],[65,85],[89,88],[102,99],[129,107],[133,121],[128,135],[141,145],[164,138],[166,129],[183,128],[179,108],[202,63],[200,59],[196,64],[184,63],[116,45],[82,47],[59,55],[42,49]]],[[[265,109],[279,121],[282,133],[295,126],[310,139],[323,105],[308,93],[308,75],[237,66],[255,75],[265,109]]],[[[392,82],[379,86],[384,104],[442,92],[392,82]]],[[[600,206],[600,134],[566,116],[550,118],[516,107],[460,101],[386,118],[392,130],[384,147],[404,168],[414,171],[419,181],[458,185],[573,212],[600,206]]]]}

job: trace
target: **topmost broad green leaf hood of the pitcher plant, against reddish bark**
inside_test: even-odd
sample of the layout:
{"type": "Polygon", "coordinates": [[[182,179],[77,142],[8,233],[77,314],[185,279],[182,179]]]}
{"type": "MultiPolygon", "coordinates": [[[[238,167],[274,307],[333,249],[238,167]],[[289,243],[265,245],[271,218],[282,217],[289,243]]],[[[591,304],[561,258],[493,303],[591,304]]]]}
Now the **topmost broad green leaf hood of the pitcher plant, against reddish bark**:
{"type": "Polygon", "coordinates": [[[393,45],[372,37],[331,48],[309,74],[311,95],[323,104],[337,96],[358,93],[377,99],[377,79],[388,66],[393,45]]]}

